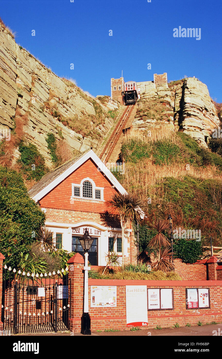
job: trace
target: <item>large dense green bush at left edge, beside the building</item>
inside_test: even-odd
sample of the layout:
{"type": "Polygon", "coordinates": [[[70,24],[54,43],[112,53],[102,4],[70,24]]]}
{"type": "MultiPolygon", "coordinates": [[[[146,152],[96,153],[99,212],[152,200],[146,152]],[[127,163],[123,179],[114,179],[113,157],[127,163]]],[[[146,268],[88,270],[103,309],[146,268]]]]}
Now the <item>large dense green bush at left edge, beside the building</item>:
{"type": "Polygon", "coordinates": [[[19,253],[28,252],[45,215],[29,198],[21,175],[5,167],[0,167],[0,213],[0,252],[6,264],[17,267],[19,253]]]}

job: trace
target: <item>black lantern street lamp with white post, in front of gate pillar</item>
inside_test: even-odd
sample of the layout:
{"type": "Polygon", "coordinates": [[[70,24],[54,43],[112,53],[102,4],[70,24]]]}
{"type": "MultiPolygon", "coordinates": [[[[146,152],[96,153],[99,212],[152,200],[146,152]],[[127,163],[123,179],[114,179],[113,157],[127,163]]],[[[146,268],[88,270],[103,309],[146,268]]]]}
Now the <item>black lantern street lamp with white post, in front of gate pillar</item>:
{"type": "Polygon", "coordinates": [[[84,335],[91,335],[91,319],[89,314],[89,295],[88,295],[88,251],[92,246],[93,238],[89,235],[88,230],[85,230],[85,233],[81,238],[79,238],[79,242],[82,246],[85,258],[84,265],[84,307],[83,314],[81,318],[81,333],[84,335]]]}

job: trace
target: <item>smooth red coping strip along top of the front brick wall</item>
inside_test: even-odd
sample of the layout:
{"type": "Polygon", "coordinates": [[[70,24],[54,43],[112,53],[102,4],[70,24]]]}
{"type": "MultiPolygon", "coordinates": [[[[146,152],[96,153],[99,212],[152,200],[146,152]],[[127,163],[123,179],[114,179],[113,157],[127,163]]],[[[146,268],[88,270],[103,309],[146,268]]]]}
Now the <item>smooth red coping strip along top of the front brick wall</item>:
{"type": "Polygon", "coordinates": [[[89,285],[146,285],[146,286],[212,286],[221,285],[222,280],[129,280],[129,279],[88,279],[89,285]]]}

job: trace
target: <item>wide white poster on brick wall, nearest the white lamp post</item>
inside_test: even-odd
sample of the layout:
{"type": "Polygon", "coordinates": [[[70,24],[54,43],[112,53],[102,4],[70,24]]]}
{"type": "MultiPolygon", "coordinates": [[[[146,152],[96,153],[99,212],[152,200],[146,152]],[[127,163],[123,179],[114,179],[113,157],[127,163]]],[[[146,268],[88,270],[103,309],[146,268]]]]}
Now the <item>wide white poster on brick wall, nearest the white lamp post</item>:
{"type": "Polygon", "coordinates": [[[116,286],[91,285],[91,307],[116,307],[116,286]]]}

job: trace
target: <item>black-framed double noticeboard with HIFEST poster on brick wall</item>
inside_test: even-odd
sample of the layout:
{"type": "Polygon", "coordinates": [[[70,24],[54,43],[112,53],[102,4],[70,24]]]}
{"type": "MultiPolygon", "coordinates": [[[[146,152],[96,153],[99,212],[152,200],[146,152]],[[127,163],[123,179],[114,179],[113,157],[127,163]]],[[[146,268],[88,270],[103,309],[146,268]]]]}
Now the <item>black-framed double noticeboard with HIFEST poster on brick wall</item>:
{"type": "Polygon", "coordinates": [[[148,311],[174,309],[173,288],[148,288],[148,311]]]}

